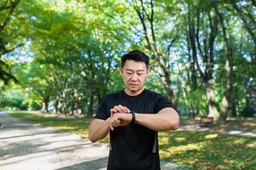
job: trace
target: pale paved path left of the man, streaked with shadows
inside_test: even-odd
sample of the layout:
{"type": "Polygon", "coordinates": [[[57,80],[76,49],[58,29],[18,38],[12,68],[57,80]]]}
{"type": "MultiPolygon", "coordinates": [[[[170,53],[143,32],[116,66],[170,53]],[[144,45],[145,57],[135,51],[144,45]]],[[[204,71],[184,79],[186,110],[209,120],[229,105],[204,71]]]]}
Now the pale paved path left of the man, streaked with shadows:
{"type": "MultiPolygon", "coordinates": [[[[103,170],[108,145],[92,144],[79,135],[25,122],[0,112],[1,170],[103,170]]],[[[161,169],[185,169],[162,163],[161,169]]]]}

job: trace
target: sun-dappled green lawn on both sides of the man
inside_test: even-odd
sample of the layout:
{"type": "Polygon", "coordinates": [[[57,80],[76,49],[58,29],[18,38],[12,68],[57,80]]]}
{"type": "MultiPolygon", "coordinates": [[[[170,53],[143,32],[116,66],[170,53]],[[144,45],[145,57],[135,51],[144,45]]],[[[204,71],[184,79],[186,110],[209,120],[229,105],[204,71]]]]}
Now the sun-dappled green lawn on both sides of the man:
{"type": "MultiPolygon", "coordinates": [[[[90,119],[59,118],[15,112],[29,122],[87,137],[90,119]]],[[[210,132],[169,131],[159,133],[160,156],[193,169],[255,169],[256,138],[210,132]]],[[[108,142],[108,138],[103,140],[108,142]]]]}

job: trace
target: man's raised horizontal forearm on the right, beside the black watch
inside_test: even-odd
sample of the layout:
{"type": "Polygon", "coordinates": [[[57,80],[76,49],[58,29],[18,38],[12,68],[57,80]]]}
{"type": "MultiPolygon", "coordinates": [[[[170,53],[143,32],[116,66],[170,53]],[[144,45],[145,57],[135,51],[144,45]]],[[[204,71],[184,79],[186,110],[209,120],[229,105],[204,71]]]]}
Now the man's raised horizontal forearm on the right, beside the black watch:
{"type": "Polygon", "coordinates": [[[172,113],[136,114],[136,123],[154,131],[176,130],[179,126],[179,117],[176,111],[172,113]]]}

